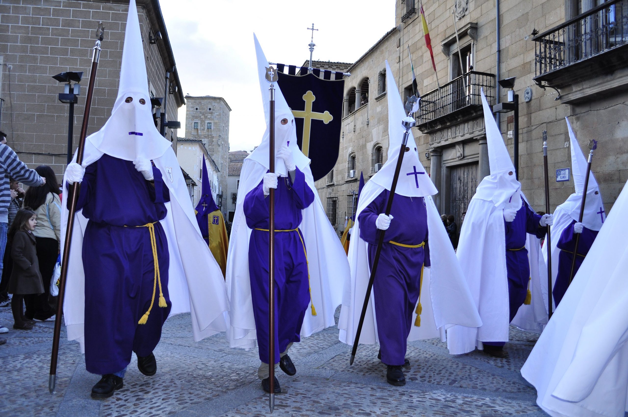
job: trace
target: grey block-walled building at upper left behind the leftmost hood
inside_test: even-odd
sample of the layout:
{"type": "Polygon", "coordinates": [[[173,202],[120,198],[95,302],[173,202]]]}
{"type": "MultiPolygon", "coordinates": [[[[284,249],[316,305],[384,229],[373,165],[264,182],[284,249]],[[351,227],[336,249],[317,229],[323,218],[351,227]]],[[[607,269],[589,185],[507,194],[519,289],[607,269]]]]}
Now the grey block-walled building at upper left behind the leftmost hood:
{"type": "MultiPolygon", "coordinates": [[[[65,71],[84,72],[74,109],[75,149],[99,21],[104,24],[105,33],[88,134],[100,129],[111,116],[128,4],[127,0],[0,0],[0,98],[4,100],[0,130],[8,134],[8,144],[21,160],[50,165],[58,175],[63,173],[68,152],[69,106],[58,100],[63,84],[51,77],[65,71]]],[[[137,4],[149,92],[151,97],[164,97],[166,70],[175,68],[165,113],[176,121],[177,109],[185,104],[185,99],[159,1],[138,0],[137,4]]],[[[166,128],[166,138],[176,141],[176,130],[166,128]]]]}

